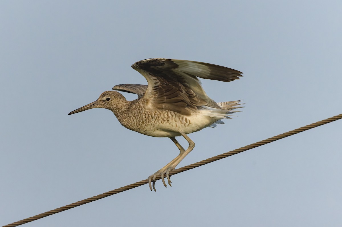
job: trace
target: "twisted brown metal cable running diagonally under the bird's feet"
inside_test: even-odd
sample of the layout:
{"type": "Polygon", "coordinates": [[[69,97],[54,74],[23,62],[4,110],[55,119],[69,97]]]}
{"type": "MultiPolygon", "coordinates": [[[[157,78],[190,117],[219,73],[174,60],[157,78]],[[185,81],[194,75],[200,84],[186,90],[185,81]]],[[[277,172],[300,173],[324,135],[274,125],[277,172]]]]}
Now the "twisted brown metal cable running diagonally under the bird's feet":
{"type": "MultiPolygon", "coordinates": [[[[274,136],[274,137],[271,137],[271,138],[268,138],[268,139],[265,139],[265,140],[262,140],[262,141],[259,141],[259,142],[256,142],[256,143],[252,143],[252,144],[247,145],[245,147],[241,147],[241,148],[235,149],[233,151],[229,151],[229,152],[226,152],[226,153],[223,153],[223,154],[211,157],[209,159],[206,159],[206,160],[203,160],[203,161],[200,161],[200,162],[196,162],[196,163],[191,164],[191,165],[184,166],[184,167],[179,168],[179,169],[175,169],[174,171],[170,172],[170,176],[175,175],[177,173],[181,173],[181,172],[187,171],[189,169],[196,168],[196,167],[201,166],[201,165],[205,165],[205,164],[208,164],[208,163],[211,163],[211,162],[223,159],[225,157],[228,157],[228,156],[231,156],[231,155],[234,155],[234,154],[238,154],[238,153],[243,152],[243,151],[247,151],[247,150],[250,150],[250,149],[253,149],[253,148],[256,148],[256,147],[260,147],[260,146],[262,146],[262,145],[264,145],[266,143],[271,143],[273,141],[276,141],[276,140],[279,140],[279,139],[282,139],[282,138],[285,138],[285,137],[288,137],[288,136],[292,136],[292,135],[297,134],[297,133],[301,133],[302,131],[305,131],[305,130],[308,130],[308,129],[311,129],[311,128],[315,128],[315,127],[320,126],[320,125],[325,125],[327,123],[336,121],[336,120],[341,119],[341,118],[342,118],[342,114],[339,114],[339,115],[336,115],[336,116],[333,116],[333,117],[329,117],[329,118],[327,118],[327,119],[325,119],[323,121],[312,123],[310,125],[306,125],[306,126],[294,129],[292,131],[288,131],[287,133],[283,133],[283,134],[280,134],[278,136],[274,136]]],[[[157,180],[160,180],[160,176],[157,177],[157,180]]],[[[86,203],[90,203],[90,202],[93,202],[93,201],[105,198],[107,196],[111,196],[111,195],[117,194],[119,192],[127,191],[129,189],[136,188],[136,187],[139,187],[141,185],[145,185],[147,183],[148,183],[148,179],[141,180],[141,181],[136,182],[134,184],[130,184],[130,185],[118,188],[118,189],[114,189],[112,191],[108,191],[108,192],[99,194],[97,196],[90,197],[88,199],[84,199],[84,200],[78,201],[76,203],[71,203],[69,205],[62,206],[60,208],[57,208],[57,209],[54,209],[54,210],[51,210],[51,211],[48,211],[48,212],[44,212],[44,213],[41,213],[41,214],[38,214],[38,215],[35,215],[35,216],[32,216],[32,217],[29,217],[29,218],[25,218],[23,220],[20,220],[18,222],[14,222],[14,223],[9,224],[9,225],[5,225],[3,227],[14,227],[14,226],[22,225],[22,224],[25,224],[25,223],[28,223],[28,222],[32,222],[34,220],[37,220],[37,219],[40,219],[40,218],[43,218],[43,217],[46,217],[46,216],[49,216],[49,215],[52,215],[52,214],[56,214],[56,213],[59,213],[59,212],[62,212],[62,211],[66,211],[66,210],[69,210],[71,208],[74,208],[74,207],[77,207],[77,206],[80,206],[80,205],[83,205],[83,204],[86,204],[86,203]]]]}

